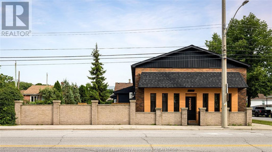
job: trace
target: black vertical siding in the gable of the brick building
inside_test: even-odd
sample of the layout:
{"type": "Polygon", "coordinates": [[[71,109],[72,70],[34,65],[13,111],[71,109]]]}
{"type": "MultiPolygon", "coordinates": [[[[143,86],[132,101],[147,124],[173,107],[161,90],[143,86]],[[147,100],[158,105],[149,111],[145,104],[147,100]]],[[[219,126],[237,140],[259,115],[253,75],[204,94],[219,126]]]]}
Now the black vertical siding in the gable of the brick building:
{"type": "MultiPolygon", "coordinates": [[[[153,68],[220,68],[222,61],[220,56],[212,55],[204,51],[195,50],[194,48],[160,57],[138,65],[137,67],[153,68]]],[[[241,65],[235,64],[228,60],[228,68],[239,68],[241,65]]]]}

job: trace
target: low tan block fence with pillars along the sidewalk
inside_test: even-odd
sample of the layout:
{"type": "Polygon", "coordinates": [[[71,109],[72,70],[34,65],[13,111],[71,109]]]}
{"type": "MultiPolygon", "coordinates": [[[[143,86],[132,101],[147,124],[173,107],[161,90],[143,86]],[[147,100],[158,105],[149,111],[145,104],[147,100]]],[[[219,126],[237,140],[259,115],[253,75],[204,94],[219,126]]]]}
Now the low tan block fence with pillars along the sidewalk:
{"type": "MultiPolygon", "coordinates": [[[[130,104],[70,105],[54,100],[50,105],[22,104],[15,102],[17,125],[182,125],[187,126],[187,109],[180,112],[136,112],[135,100],[130,104]]],[[[221,112],[206,112],[199,108],[200,126],[221,126],[221,112]]],[[[229,125],[251,125],[252,108],[242,112],[228,111],[229,125]]]]}

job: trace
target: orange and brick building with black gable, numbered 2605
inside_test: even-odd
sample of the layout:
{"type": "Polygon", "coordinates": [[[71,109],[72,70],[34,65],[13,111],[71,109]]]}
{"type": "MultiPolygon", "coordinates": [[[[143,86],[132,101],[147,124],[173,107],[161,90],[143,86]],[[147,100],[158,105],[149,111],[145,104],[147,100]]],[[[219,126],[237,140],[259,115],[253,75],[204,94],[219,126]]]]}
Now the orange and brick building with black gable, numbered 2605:
{"type": "MultiPolygon", "coordinates": [[[[228,58],[227,81],[230,111],[244,111],[247,103],[249,64],[228,58]]],[[[131,65],[136,111],[221,111],[219,54],[194,45],[131,65]]]]}

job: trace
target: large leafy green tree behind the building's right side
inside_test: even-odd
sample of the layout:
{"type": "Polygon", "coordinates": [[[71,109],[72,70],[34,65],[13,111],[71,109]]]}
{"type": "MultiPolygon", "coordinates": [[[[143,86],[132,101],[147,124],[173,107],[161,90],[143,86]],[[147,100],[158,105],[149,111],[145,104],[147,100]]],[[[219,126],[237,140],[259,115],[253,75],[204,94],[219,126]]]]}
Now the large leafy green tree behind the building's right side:
{"type": "MultiPolygon", "coordinates": [[[[221,54],[221,37],[213,33],[205,45],[210,51],[221,54]]],[[[253,13],[234,19],[227,33],[227,55],[251,65],[247,70],[248,107],[251,98],[258,94],[272,94],[272,29],[253,13]]]]}

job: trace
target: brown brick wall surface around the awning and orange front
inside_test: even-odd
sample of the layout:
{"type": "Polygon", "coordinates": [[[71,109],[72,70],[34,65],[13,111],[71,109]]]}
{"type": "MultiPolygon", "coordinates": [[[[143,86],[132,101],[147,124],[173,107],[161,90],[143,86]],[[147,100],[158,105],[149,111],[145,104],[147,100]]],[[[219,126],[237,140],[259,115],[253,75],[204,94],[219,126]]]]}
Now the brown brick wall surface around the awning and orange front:
{"type": "MultiPolygon", "coordinates": [[[[221,72],[221,68],[135,68],[135,97],[136,111],[144,111],[144,89],[138,88],[142,72],[221,72]]],[[[228,68],[228,72],[239,72],[243,79],[247,81],[246,68],[228,68]]],[[[247,90],[242,89],[238,92],[238,111],[243,111],[247,102],[247,90]]]]}

